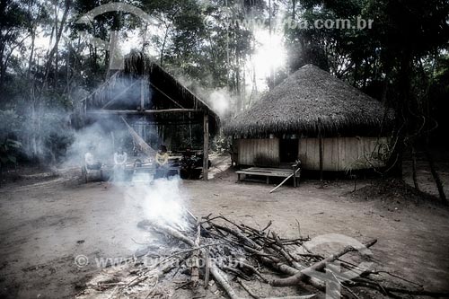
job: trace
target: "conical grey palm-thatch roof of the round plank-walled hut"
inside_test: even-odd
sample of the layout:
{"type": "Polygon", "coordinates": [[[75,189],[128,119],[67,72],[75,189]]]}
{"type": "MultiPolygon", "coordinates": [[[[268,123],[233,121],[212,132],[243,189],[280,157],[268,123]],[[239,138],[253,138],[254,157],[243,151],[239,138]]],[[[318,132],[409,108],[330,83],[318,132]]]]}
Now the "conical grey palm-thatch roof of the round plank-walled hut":
{"type": "Polygon", "coordinates": [[[225,126],[225,134],[262,137],[269,134],[368,136],[391,120],[390,111],[357,88],[317,66],[301,67],[225,126]]]}

